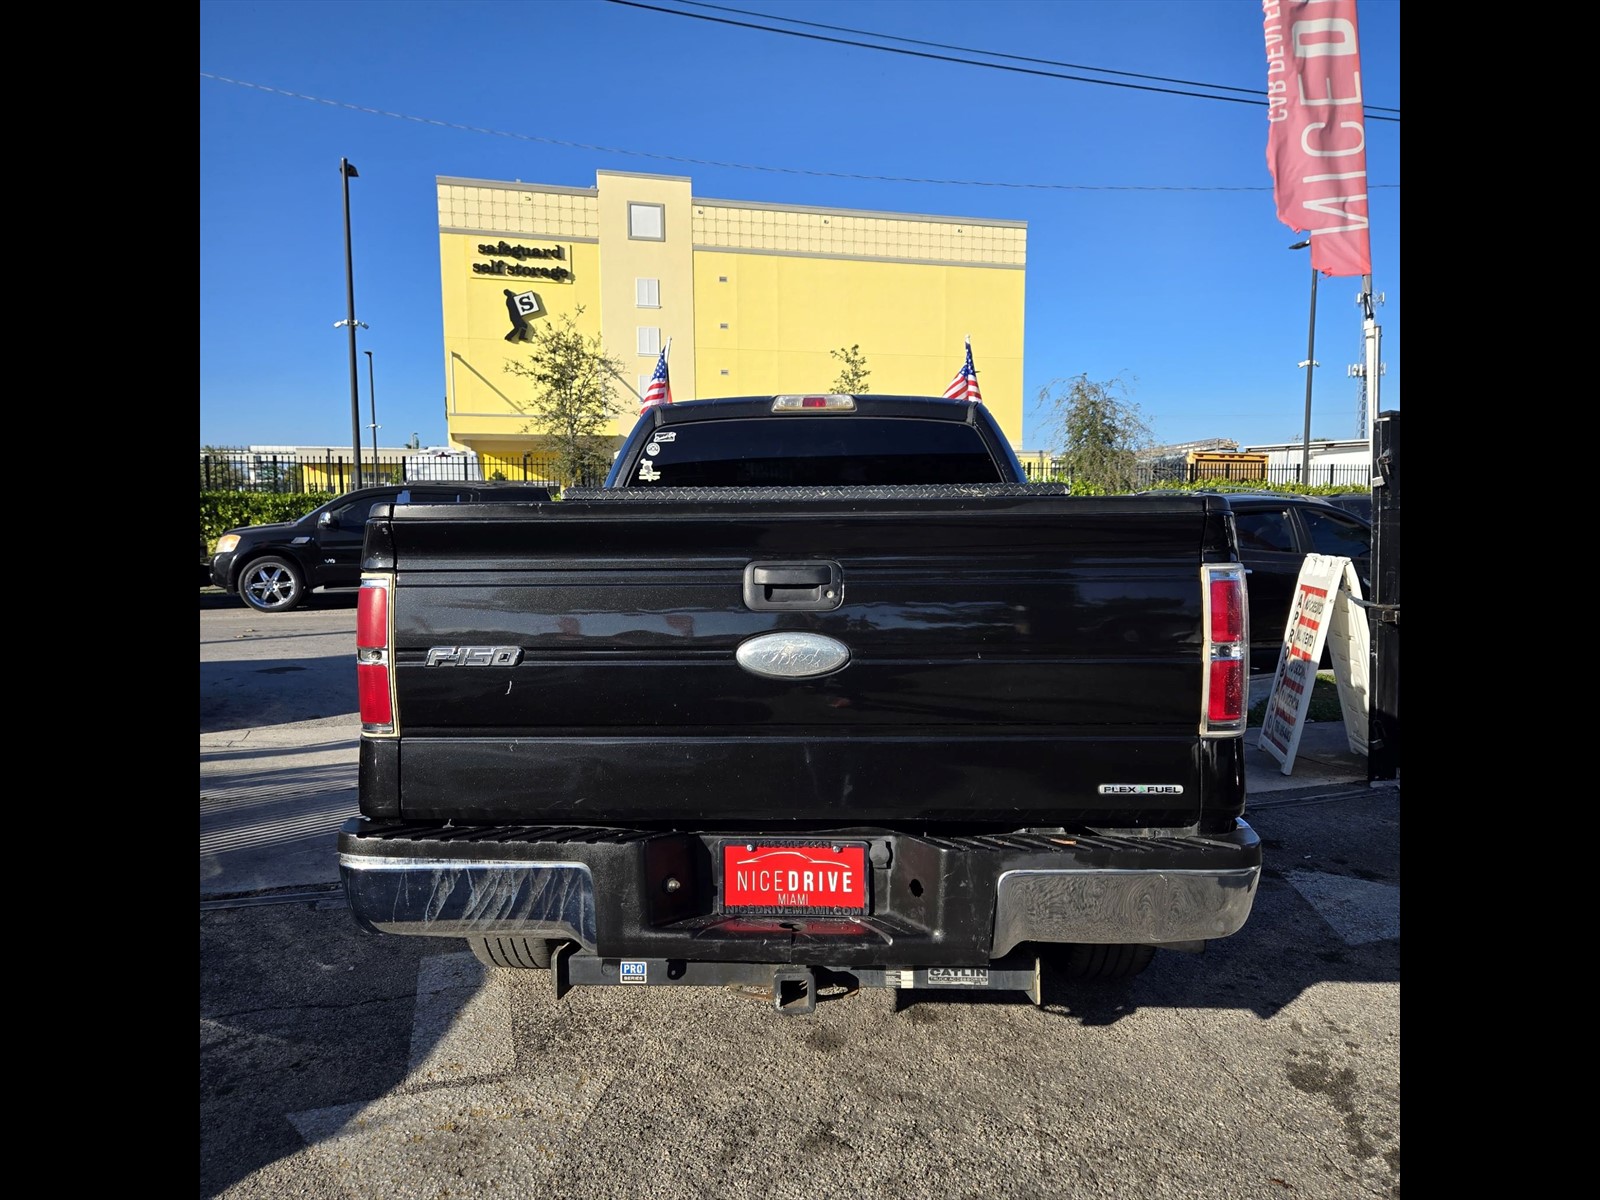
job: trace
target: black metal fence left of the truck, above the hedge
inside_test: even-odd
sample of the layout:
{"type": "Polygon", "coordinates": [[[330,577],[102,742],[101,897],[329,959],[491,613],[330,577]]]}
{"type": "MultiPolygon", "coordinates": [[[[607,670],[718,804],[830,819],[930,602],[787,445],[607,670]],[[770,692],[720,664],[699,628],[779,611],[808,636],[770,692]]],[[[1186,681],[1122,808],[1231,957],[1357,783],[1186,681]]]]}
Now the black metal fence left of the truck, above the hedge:
{"type": "MultiPolygon", "coordinates": [[[[208,448],[200,451],[200,491],[333,493],[355,486],[349,453],[336,451],[256,451],[208,448]]],[[[437,451],[363,454],[362,486],[374,483],[424,483],[440,480],[512,480],[558,488],[560,472],[554,458],[509,454],[440,454],[437,451]]],[[[578,480],[578,486],[600,486],[605,472],[578,480]]]]}

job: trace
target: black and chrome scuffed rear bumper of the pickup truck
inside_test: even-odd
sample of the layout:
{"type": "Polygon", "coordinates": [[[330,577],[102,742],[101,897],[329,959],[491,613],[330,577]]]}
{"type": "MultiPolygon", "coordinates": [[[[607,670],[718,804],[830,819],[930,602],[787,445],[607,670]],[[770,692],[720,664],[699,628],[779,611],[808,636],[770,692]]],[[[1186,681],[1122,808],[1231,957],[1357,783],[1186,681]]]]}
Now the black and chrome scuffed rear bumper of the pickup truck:
{"type": "Polygon", "coordinates": [[[1261,882],[1245,821],[1222,835],[851,834],[875,846],[856,918],[722,910],[728,835],[365,824],[339,842],[376,933],[573,941],[606,957],[971,966],[1021,946],[1195,944],[1237,933],[1261,882]]]}

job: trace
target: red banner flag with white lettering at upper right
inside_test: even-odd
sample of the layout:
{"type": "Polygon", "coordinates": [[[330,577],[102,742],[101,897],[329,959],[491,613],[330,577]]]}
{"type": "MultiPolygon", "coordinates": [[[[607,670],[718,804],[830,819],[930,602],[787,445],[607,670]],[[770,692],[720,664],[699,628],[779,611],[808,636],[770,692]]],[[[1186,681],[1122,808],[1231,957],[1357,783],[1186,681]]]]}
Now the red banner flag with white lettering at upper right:
{"type": "Polygon", "coordinates": [[[1267,168],[1278,221],[1323,275],[1368,275],[1366,120],[1355,0],[1262,0],[1267,168]]]}

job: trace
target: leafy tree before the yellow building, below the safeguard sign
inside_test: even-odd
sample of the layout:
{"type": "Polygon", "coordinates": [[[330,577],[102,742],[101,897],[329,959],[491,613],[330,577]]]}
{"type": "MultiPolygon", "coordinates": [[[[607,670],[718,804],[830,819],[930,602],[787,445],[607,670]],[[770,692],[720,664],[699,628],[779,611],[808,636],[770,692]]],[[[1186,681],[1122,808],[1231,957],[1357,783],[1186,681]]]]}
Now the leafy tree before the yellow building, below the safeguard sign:
{"type": "Polygon", "coordinates": [[[530,326],[528,362],[506,363],[507,373],[533,386],[531,400],[512,405],[528,416],[525,432],[550,440],[563,488],[605,474],[613,446],[603,430],[622,414],[622,363],[605,352],[598,336],[578,328],[582,312],[579,306],[560,323],[530,326]]]}

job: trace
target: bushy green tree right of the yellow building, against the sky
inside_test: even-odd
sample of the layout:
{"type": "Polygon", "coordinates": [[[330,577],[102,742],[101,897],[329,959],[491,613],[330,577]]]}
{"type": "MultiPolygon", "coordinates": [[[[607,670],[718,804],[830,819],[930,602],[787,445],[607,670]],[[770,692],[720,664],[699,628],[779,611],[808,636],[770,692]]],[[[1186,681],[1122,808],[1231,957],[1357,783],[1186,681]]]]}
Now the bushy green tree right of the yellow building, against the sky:
{"type": "Polygon", "coordinates": [[[1061,464],[1075,491],[1133,491],[1138,485],[1139,451],[1152,437],[1128,392],[1120,378],[1094,382],[1086,373],[1038,389],[1045,434],[1051,446],[1061,446],[1061,464]]]}

